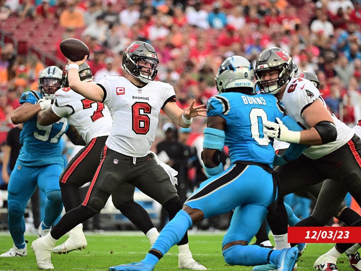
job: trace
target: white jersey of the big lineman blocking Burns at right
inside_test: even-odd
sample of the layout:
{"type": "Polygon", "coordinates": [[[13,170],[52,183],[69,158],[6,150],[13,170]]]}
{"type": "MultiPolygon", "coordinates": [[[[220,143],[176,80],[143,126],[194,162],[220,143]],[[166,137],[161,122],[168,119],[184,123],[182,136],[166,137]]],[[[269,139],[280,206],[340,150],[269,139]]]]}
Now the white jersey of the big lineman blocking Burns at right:
{"type": "MultiPolygon", "coordinates": [[[[327,108],[325,101],[320,96],[319,90],[311,81],[304,78],[293,78],[287,84],[281,101],[286,114],[305,129],[309,129],[310,127],[307,126],[301,114],[302,111],[316,99],[319,99],[327,108]]],[[[337,119],[334,114],[330,114],[336,126],[337,138],[333,142],[307,147],[303,151],[303,154],[310,159],[318,159],[325,156],[347,143],[355,135],[355,131],[352,128],[337,119]]]]}

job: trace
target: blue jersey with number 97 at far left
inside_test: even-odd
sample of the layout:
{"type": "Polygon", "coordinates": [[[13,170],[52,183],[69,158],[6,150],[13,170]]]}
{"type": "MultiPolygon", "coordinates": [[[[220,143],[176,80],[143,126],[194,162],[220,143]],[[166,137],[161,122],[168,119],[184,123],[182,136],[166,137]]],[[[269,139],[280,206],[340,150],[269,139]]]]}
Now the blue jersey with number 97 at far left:
{"type": "MultiPolygon", "coordinates": [[[[36,104],[41,97],[38,91],[26,91],[20,97],[20,104],[25,102],[36,104]]],[[[53,125],[41,126],[35,115],[23,125],[23,130],[20,133],[22,147],[17,162],[28,166],[63,165],[60,137],[67,128],[66,118],[60,119],[53,125]]]]}

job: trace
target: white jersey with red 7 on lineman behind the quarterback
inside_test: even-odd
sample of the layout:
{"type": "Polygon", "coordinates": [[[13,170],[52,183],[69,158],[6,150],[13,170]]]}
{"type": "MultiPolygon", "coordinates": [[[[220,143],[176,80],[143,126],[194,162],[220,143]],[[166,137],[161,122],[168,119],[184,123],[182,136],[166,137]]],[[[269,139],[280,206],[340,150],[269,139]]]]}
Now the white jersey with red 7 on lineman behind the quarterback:
{"type": "Polygon", "coordinates": [[[53,112],[68,119],[86,143],[98,136],[109,136],[112,117],[104,104],[90,101],[69,87],[55,93],[53,112]]]}

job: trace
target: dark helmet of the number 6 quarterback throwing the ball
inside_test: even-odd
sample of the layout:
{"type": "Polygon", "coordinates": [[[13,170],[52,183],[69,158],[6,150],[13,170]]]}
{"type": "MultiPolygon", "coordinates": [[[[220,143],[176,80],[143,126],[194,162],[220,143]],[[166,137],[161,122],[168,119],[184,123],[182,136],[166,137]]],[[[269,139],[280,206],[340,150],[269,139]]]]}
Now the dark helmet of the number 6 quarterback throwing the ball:
{"type": "Polygon", "coordinates": [[[136,41],[123,51],[122,67],[144,83],[155,79],[158,64],[157,53],[149,43],[136,41]]]}

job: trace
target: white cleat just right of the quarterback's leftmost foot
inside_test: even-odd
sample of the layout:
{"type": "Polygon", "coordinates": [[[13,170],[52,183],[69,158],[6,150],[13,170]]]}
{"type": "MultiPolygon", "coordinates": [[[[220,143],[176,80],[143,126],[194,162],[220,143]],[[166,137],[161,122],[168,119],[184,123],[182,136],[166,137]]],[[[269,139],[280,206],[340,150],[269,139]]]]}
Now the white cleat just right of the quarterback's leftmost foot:
{"type": "Polygon", "coordinates": [[[88,245],[82,228],[73,228],[69,231],[69,238],[64,243],[53,248],[54,253],[65,254],[73,250],[85,249],[88,245]]]}

